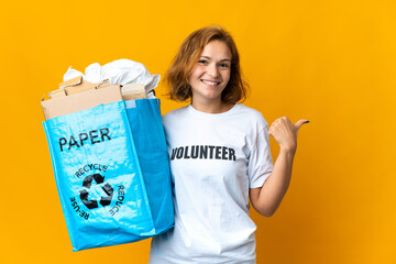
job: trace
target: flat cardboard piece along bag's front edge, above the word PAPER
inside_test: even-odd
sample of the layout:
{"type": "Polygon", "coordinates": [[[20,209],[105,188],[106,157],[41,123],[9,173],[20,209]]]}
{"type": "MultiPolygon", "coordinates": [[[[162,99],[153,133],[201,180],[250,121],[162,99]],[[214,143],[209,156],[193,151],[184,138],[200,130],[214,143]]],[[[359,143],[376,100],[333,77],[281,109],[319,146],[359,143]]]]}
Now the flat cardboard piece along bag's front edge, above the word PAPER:
{"type": "MultiPolygon", "coordinates": [[[[62,90],[62,89],[59,89],[62,90]]],[[[62,94],[62,92],[59,92],[62,94]]],[[[100,89],[89,89],[74,95],[53,97],[51,100],[42,101],[45,120],[64,114],[86,110],[99,105],[121,101],[120,85],[109,86],[100,89]]]]}

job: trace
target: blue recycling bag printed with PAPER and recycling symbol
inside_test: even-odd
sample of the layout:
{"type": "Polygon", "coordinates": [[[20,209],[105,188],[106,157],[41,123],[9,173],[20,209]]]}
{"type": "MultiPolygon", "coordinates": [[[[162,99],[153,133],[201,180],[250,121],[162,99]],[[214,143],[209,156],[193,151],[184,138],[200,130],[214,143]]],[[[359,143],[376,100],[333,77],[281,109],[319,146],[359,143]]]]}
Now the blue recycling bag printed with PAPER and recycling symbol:
{"type": "Polygon", "coordinates": [[[43,122],[74,251],[174,224],[160,100],[112,102],[43,122]]]}

